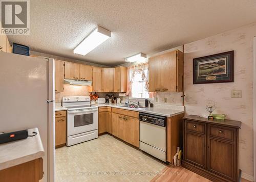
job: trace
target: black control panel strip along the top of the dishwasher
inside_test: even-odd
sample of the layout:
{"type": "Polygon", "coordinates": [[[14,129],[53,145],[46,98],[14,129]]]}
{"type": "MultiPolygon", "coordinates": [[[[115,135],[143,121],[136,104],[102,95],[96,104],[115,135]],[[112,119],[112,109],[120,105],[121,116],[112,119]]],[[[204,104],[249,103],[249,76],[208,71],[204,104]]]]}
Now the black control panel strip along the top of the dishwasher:
{"type": "Polygon", "coordinates": [[[166,126],[166,117],[164,117],[164,116],[140,113],[139,120],[148,122],[148,123],[152,123],[152,124],[156,124],[159,126],[163,126],[163,127],[166,126]]]}

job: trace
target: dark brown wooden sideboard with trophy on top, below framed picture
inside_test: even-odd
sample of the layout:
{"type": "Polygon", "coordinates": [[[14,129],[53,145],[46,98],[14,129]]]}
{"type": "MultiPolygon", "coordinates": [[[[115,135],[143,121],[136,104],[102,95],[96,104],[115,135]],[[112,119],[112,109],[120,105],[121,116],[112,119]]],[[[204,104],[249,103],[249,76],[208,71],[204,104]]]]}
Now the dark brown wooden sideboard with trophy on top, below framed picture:
{"type": "Polygon", "coordinates": [[[240,121],[183,118],[182,166],[212,181],[239,181],[240,121]]]}

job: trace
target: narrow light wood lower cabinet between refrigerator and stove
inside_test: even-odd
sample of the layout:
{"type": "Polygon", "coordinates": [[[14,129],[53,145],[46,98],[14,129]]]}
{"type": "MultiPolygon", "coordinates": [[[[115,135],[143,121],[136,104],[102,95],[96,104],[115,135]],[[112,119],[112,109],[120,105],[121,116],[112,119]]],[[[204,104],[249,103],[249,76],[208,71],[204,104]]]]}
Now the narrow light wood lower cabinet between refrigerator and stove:
{"type": "Polygon", "coordinates": [[[67,140],[66,111],[55,112],[55,147],[64,146],[67,140]]]}

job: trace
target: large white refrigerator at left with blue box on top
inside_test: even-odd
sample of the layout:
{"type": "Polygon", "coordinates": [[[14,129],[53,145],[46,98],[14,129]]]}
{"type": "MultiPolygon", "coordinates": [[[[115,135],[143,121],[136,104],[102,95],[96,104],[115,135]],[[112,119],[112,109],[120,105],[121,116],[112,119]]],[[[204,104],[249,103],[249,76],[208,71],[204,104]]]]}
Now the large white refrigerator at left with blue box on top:
{"type": "Polygon", "coordinates": [[[42,181],[54,181],[54,117],[54,60],[0,52],[0,132],[39,129],[42,181]]]}

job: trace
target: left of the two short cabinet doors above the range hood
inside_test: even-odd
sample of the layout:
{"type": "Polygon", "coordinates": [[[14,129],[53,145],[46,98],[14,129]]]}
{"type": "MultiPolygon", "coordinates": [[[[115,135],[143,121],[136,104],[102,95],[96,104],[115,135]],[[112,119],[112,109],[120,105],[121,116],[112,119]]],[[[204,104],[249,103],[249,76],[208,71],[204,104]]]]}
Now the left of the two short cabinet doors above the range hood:
{"type": "Polygon", "coordinates": [[[65,79],[79,79],[80,65],[65,62],[65,79]]]}

